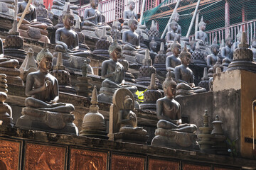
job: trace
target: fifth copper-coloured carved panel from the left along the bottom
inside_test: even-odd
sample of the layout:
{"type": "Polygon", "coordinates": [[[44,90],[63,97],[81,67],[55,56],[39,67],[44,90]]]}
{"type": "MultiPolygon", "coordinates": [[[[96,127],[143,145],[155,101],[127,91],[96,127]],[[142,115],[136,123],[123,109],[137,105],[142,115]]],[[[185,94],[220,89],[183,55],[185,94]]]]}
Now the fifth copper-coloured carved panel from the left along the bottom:
{"type": "Polygon", "coordinates": [[[160,159],[149,159],[149,170],[178,170],[178,162],[169,162],[160,159]]]}

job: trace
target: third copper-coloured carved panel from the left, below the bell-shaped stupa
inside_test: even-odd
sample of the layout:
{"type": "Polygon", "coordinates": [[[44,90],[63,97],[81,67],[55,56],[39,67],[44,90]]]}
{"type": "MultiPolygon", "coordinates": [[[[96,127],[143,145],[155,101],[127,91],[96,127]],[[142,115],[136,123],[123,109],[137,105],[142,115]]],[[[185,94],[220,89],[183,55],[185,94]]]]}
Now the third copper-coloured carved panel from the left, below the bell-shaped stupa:
{"type": "Polygon", "coordinates": [[[71,149],[70,170],[107,170],[107,153],[71,149]]]}

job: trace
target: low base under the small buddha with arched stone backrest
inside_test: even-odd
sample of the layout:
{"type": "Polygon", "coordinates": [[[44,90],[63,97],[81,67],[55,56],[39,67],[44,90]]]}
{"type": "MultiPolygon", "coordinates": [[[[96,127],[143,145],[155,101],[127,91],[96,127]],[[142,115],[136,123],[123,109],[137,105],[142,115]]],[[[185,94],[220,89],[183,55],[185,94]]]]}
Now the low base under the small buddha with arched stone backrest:
{"type": "Polygon", "coordinates": [[[130,143],[138,143],[138,144],[146,144],[146,140],[149,138],[148,135],[137,135],[132,133],[123,133],[117,132],[108,135],[109,140],[113,140],[116,142],[130,142],[130,143]]]}

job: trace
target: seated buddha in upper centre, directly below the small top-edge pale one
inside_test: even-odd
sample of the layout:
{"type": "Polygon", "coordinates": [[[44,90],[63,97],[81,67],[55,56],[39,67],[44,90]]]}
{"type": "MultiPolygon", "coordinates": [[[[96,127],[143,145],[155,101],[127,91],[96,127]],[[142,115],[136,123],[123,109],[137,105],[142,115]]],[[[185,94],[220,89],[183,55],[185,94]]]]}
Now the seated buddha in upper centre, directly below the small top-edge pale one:
{"type": "Polygon", "coordinates": [[[138,27],[138,21],[132,16],[128,21],[129,30],[125,30],[122,34],[123,55],[128,62],[142,63],[145,50],[141,49],[139,35],[135,32],[138,27]]]}

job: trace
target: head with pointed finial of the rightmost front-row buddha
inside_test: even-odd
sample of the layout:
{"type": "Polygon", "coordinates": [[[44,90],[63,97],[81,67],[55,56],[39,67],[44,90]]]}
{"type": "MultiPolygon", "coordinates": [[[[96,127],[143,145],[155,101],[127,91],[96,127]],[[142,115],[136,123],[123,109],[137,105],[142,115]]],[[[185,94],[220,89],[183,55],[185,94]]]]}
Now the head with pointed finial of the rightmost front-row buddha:
{"type": "Polygon", "coordinates": [[[176,95],[176,82],[171,78],[171,70],[169,69],[168,77],[163,83],[164,95],[173,98],[176,95]]]}

